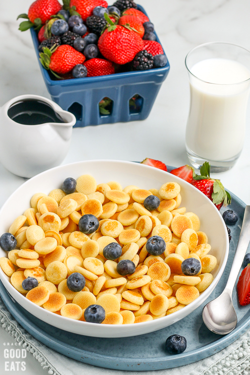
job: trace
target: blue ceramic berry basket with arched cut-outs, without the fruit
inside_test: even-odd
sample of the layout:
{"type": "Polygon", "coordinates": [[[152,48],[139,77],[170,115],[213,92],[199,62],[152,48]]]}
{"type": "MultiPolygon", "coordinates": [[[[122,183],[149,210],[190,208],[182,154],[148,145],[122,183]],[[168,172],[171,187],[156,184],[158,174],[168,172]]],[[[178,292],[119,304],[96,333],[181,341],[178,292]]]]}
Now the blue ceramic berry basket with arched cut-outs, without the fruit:
{"type": "MultiPolygon", "coordinates": [[[[146,14],[142,6],[138,5],[137,8],[146,14]]],[[[31,28],[31,36],[39,60],[39,42],[33,28],[31,28]]],[[[156,41],[159,42],[157,35],[156,41]]],[[[51,99],[62,109],[75,115],[75,127],[145,119],[169,71],[167,61],[162,68],[53,80],[48,70],[44,69],[40,62],[39,65],[51,99]],[[129,106],[129,99],[135,95],[137,95],[136,105],[129,106]],[[99,102],[104,97],[113,101],[108,115],[99,112],[99,102]]]]}

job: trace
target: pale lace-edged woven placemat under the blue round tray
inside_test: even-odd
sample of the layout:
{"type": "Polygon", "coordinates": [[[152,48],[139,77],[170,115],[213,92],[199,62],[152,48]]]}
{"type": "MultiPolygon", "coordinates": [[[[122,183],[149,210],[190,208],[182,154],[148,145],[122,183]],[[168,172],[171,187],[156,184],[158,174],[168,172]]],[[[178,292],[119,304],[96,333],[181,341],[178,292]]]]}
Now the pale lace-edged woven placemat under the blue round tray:
{"type": "MultiPolygon", "coordinates": [[[[78,362],[43,345],[12,317],[0,298],[0,324],[17,342],[31,352],[49,375],[124,375],[125,371],[95,367],[78,362]]],[[[144,371],[127,371],[127,375],[145,375],[144,371]]],[[[250,329],[220,352],[198,362],[167,370],[150,371],[155,375],[249,375],[250,329]]]]}

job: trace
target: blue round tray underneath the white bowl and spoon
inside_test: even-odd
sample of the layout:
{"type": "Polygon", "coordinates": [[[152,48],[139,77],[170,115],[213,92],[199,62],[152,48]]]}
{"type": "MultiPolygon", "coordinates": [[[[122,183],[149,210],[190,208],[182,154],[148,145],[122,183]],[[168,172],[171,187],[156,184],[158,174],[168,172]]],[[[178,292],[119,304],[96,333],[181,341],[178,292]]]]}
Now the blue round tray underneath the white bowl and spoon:
{"type": "MultiPolygon", "coordinates": [[[[169,170],[171,167],[168,167],[169,170]]],[[[55,328],[31,315],[13,300],[1,282],[0,296],[9,312],[32,336],[51,349],[75,360],[99,367],[127,371],[159,370],[195,362],[223,349],[250,326],[250,305],[239,306],[235,287],[232,295],[238,324],[231,333],[220,336],[210,332],[201,317],[203,306],[216,298],[226,284],[240,232],[244,207],[245,204],[232,194],[229,208],[238,213],[239,220],[236,225],[230,226],[232,239],[228,261],[217,286],[201,306],[182,320],[166,328],[140,336],[124,338],[81,336],[55,328]],[[174,333],[181,334],[187,339],[187,348],[182,354],[171,355],[164,350],[165,339],[174,333]]]]}

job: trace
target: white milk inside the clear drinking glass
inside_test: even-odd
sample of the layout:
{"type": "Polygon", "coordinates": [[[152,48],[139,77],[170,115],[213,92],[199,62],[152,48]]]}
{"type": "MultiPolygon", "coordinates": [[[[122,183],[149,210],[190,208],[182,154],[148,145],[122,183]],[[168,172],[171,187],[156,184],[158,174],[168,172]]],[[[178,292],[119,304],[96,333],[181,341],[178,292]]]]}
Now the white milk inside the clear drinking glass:
{"type": "Polygon", "coordinates": [[[250,71],[241,63],[224,58],[199,61],[190,71],[194,76],[189,74],[191,101],[186,145],[204,159],[233,158],[244,141],[249,94],[249,82],[244,81],[250,78],[250,71]]]}

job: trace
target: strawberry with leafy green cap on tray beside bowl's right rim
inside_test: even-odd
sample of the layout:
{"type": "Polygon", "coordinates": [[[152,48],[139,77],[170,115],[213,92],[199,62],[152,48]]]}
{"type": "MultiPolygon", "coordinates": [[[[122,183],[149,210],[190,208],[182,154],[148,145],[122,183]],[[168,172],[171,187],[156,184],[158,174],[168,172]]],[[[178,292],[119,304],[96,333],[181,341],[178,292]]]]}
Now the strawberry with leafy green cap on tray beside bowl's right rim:
{"type": "Polygon", "coordinates": [[[210,178],[210,164],[205,161],[200,167],[200,175],[193,177],[192,185],[203,192],[218,208],[231,202],[231,196],[219,179],[210,178]]]}

